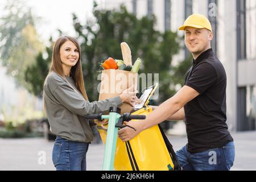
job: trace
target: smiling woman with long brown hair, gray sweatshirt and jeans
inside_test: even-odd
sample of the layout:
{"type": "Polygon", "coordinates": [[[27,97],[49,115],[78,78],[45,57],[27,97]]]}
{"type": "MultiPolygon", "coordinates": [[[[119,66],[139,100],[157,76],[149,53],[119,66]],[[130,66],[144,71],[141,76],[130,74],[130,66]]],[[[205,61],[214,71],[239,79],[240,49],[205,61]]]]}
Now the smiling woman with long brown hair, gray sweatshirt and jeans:
{"type": "Polygon", "coordinates": [[[134,88],[129,88],[117,97],[89,102],[82,77],[81,49],[70,36],[61,36],[55,42],[43,93],[49,125],[57,135],[52,151],[57,170],[86,170],[86,152],[93,140],[86,114],[104,113],[110,106],[122,102],[133,105],[137,101],[134,88]]]}

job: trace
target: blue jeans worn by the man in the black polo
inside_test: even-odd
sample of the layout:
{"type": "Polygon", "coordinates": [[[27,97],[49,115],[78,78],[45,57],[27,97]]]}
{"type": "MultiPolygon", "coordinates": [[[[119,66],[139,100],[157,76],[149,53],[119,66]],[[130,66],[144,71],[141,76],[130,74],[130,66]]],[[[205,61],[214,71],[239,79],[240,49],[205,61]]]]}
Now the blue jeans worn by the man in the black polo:
{"type": "Polygon", "coordinates": [[[233,166],[235,158],[234,142],[228,142],[223,147],[212,148],[203,152],[191,154],[184,146],[176,152],[177,159],[183,170],[196,171],[226,171],[233,166]]]}

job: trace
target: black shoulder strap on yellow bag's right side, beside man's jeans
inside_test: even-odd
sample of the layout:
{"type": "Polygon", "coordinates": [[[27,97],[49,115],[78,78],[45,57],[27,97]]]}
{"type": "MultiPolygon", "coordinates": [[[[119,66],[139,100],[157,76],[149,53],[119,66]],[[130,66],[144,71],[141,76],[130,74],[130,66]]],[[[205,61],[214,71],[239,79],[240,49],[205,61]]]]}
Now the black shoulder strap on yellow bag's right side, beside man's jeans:
{"type": "Polygon", "coordinates": [[[177,160],[177,156],[175,154],[175,151],[174,151],[174,148],[172,148],[172,144],[170,143],[170,141],[168,140],[168,138],[166,137],[166,134],[164,133],[162,127],[160,125],[159,126],[159,129],[160,129],[160,132],[163,136],[163,139],[164,139],[164,143],[166,143],[166,147],[171,155],[171,158],[172,158],[172,162],[174,163],[174,171],[180,171],[182,168],[177,160]]]}

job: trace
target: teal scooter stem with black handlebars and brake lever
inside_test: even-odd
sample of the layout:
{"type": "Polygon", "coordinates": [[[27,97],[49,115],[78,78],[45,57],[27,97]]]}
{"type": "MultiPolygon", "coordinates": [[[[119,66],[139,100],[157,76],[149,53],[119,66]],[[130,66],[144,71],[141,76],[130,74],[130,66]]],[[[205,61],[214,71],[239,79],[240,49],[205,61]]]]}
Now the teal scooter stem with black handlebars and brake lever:
{"type": "MultiPolygon", "coordinates": [[[[121,109],[119,107],[110,107],[109,115],[88,114],[85,116],[86,119],[98,119],[99,121],[102,121],[102,119],[109,119],[102,167],[103,171],[113,171],[114,169],[115,147],[117,146],[118,128],[131,127],[128,125],[123,125],[124,121],[146,118],[146,115],[131,115],[130,113],[121,115],[120,113],[121,109]]],[[[136,131],[135,128],[131,128],[136,131]]]]}

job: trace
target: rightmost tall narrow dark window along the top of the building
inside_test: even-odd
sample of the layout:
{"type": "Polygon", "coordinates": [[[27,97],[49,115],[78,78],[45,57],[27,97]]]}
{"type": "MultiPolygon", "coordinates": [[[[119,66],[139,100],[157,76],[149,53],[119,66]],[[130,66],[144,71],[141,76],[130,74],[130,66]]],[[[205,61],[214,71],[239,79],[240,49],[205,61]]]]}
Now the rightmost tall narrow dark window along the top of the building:
{"type": "Polygon", "coordinates": [[[237,60],[246,59],[246,0],[237,0],[237,60]]]}

